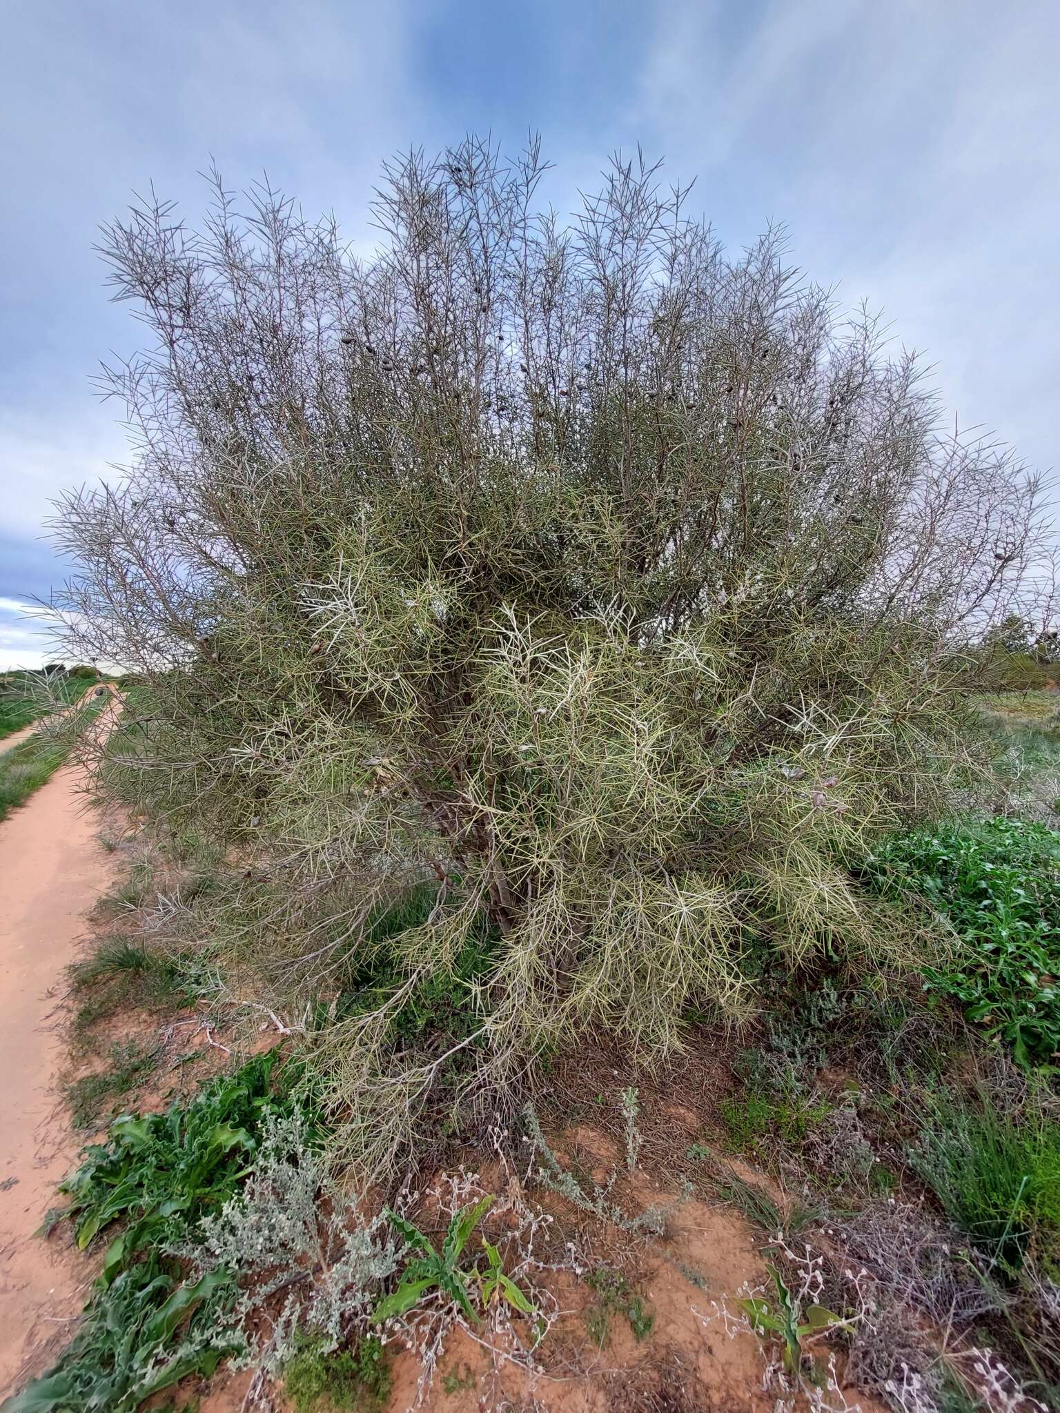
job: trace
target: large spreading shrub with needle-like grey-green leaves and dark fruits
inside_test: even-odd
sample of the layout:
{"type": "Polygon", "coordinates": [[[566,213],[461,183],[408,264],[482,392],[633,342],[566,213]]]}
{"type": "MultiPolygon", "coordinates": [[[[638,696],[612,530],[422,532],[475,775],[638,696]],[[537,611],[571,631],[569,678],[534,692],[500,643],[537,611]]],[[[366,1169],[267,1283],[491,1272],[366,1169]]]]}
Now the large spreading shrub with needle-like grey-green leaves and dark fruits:
{"type": "Polygon", "coordinates": [[[103,240],[154,342],[110,374],[143,454],[58,526],[71,651],[141,682],[100,787],[239,859],[196,921],[298,1005],[441,885],[328,1041],[376,1164],[455,1048],[492,1111],[578,1031],[657,1056],[688,1003],[746,1016],[752,937],[905,957],[844,859],[962,766],[961,643],[1040,541],[1035,479],[936,435],[777,235],[726,257],[622,161],[561,229],[543,170],[389,167],[366,266],[219,179],[201,232],[158,203],[103,240]],[[483,914],[478,1023],[397,1036],[483,914]]]}

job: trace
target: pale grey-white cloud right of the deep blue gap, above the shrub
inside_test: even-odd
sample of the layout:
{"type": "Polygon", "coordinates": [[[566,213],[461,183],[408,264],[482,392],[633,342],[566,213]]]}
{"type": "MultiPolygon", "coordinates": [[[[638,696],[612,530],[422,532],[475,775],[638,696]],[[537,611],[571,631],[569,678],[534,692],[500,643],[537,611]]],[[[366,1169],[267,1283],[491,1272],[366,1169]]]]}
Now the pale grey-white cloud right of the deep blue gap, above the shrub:
{"type": "Polygon", "coordinates": [[[630,99],[741,244],[770,220],[937,365],[962,427],[1057,461],[1060,7],[673,3],[630,99]]]}

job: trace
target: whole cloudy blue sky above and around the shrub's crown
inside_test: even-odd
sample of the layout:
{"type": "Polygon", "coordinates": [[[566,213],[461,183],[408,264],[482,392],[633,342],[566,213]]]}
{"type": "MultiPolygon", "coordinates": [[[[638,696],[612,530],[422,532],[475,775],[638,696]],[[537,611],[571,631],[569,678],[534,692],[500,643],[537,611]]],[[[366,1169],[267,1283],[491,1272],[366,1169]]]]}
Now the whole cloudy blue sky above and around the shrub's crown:
{"type": "Polygon", "coordinates": [[[372,239],[380,162],[540,131],[570,211],[616,148],[695,178],[729,246],[796,264],[937,365],[961,428],[1060,462],[1060,0],[6,0],[0,11],[0,670],[69,567],[64,487],[114,478],[100,360],[137,348],[93,253],[134,192],[194,223],[263,171],[372,239]]]}

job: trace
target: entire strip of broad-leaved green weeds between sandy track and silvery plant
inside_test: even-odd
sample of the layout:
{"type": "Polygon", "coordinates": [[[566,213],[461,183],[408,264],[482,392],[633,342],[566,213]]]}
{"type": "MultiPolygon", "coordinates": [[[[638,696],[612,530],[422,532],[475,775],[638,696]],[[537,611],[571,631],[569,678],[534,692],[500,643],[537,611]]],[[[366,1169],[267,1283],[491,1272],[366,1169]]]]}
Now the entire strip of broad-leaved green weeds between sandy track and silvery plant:
{"type": "Polygon", "coordinates": [[[247,1176],[263,1129],[291,1112],[273,1082],[276,1057],[256,1056],[165,1113],[124,1115],[82,1153],[61,1191],[88,1248],[123,1224],[103,1255],[82,1327],[58,1365],[30,1383],[17,1413],[127,1413],[188,1373],[212,1373],[239,1335],[223,1320],[229,1270],[184,1276],[164,1252],[223,1210],[247,1176]]]}

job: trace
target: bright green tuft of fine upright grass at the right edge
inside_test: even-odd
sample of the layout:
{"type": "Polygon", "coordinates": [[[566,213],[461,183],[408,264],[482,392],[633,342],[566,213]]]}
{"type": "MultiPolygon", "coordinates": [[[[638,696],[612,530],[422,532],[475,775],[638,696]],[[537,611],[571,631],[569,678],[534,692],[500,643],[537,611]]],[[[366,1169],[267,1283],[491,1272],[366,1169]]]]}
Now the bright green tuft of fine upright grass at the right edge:
{"type": "Polygon", "coordinates": [[[1060,1123],[936,1094],[910,1166],[992,1260],[1060,1259],[1060,1123]]]}

